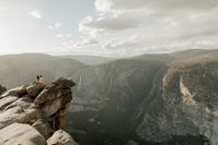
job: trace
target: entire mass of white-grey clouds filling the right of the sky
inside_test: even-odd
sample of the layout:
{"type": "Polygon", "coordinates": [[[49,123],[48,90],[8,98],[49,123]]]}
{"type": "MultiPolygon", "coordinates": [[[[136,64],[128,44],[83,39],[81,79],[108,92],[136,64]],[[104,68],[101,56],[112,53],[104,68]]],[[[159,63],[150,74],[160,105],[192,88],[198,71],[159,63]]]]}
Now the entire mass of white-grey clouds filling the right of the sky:
{"type": "Polygon", "coordinates": [[[95,0],[95,9],[79,31],[101,38],[105,51],[165,52],[218,45],[216,0],[95,0]]]}

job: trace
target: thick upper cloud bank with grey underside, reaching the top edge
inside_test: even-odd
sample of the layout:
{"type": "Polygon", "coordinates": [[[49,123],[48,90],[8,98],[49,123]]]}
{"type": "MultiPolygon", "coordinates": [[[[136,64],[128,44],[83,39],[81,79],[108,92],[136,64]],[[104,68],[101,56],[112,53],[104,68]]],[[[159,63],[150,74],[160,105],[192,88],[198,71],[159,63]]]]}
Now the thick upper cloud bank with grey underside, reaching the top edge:
{"type": "MultiPolygon", "coordinates": [[[[152,19],[157,28],[165,29],[165,38],[217,34],[217,8],[215,0],[95,0],[96,15],[83,19],[79,31],[96,37],[150,27],[152,19]]],[[[153,34],[160,36],[156,29],[153,34]]]]}

